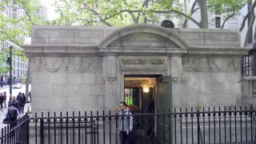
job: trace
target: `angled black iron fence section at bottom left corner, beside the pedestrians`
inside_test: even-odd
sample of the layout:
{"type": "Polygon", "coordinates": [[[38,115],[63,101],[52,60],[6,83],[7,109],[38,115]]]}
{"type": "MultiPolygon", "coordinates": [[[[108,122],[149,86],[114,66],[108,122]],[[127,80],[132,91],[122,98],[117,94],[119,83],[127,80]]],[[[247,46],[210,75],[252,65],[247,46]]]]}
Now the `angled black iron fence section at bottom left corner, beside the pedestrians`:
{"type": "MultiPolygon", "coordinates": [[[[1,123],[1,125],[3,125],[1,123]]],[[[0,131],[1,144],[28,144],[29,143],[29,125],[30,118],[28,115],[22,116],[16,122],[5,126],[0,131]]]]}

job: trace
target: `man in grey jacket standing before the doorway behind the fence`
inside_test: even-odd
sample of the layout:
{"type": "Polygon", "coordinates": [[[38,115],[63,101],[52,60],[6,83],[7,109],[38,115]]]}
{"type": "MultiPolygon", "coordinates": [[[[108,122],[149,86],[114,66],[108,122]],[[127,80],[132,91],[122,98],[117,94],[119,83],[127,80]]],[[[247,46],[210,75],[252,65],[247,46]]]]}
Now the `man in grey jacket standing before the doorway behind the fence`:
{"type": "Polygon", "coordinates": [[[118,115],[121,144],[126,144],[126,139],[128,139],[130,144],[135,144],[131,135],[131,131],[133,130],[133,117],[130,116],[130,109],[127,107],[126,102],[120,102],[120,112],[118,115]]]}

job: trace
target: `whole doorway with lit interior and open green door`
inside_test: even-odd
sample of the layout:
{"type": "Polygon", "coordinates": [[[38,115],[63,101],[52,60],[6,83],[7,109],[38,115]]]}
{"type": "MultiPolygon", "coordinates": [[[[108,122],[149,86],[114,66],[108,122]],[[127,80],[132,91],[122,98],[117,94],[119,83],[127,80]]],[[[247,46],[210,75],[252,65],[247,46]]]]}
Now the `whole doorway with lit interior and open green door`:
{"type": "Polygon", "coordinates": [[[158,113],[171,110],[171,77],[162,75],[125,75],[124,97],[133,114],[148,114],[134,118],[134,129],[144,138],[156,138],[159,143],[171,142],[170,119],[158,113]],[[166,111],[165,111],[166,110],[166,111]],[[164,135],[164,136],[163,136],[164,135]]]}

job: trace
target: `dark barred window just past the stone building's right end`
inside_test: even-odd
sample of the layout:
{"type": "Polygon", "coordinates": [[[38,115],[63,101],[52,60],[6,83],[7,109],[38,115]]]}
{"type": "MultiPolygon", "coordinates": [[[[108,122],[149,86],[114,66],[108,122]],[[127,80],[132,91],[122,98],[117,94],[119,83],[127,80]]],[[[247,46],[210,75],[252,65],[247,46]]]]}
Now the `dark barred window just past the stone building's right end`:
{"type": "Polygon", "coordinates": [[[242,76],[251,75],[251,60],[249,55],[242,56],[242,76]]]}

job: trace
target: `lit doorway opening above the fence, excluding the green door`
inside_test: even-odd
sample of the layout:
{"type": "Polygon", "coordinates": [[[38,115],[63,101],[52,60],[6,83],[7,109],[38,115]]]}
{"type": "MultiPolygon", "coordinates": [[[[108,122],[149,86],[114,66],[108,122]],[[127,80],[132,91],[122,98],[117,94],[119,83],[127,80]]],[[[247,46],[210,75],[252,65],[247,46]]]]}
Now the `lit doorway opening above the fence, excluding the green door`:
{"type": "Polygon", "coordinates": [[[156,79],[150,75],[125,76],[123,100],[134,113],[154,113],[156,79]]]}

